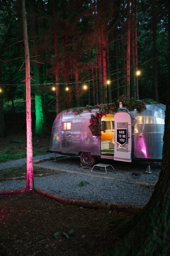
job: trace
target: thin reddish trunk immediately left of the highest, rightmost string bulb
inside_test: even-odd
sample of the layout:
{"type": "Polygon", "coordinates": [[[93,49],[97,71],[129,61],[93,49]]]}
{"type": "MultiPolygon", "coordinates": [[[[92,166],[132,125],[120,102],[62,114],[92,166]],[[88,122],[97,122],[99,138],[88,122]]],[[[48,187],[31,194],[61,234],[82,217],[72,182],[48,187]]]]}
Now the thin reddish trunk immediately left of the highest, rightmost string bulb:
{"type": "Polygon", "coordinates": [[[135,24],[134,24],[134,34],[135,34],[135,84],[136,84],[136,100],[139,100],[139,89],[138,89],[138,50],[137,50],[137,0],[135,0],[135,24]]]}

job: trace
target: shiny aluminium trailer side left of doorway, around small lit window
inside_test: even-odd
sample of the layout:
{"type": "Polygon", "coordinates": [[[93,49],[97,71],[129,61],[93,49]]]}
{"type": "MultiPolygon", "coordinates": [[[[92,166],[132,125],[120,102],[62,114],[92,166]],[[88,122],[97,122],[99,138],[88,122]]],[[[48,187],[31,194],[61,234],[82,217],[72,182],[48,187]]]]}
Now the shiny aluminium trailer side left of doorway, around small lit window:
{"type": "MultiPolygon", "coordinates": [[[[91,113],[96,111],[83,111],[80,115],[74,113],[63,114],[62,122],[71,122],[71,130],[62,130],[61,120],[55,120],[52,131],[55,131],[55,129],[58,131],[60,125],[60,136],[58,142],[55,138],[51,138],[50,151],[60,151],[59,153],[71,155],[78,155],[79,152],[90,152],[91,155],[100,156],[100,140],[89,133],[88,127],[91,113]]],[[[58,135],[53,133],[54,136],[58,135]]]]}

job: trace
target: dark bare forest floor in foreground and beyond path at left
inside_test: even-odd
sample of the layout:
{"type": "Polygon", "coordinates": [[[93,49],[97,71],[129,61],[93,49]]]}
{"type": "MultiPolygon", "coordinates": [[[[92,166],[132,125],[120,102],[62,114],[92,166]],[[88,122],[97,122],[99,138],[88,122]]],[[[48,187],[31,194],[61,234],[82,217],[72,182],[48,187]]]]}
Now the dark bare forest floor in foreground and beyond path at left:
{"type": "MultiPolygon", "coordinates": [[[[26,150],[26,131],[16,133],[19,124],[22,124],[19,114],[15,119],[12,114],[5,116],[7,137],[1,138],[0,151],[8,146],[14,150],[26,150]],[[10,142],[16,140],[22,143],[10,142]]],[[[50,132],[46,138],[33,137],[33,150],[37,147],[38,151],[43,151],[45,147],[49,148],[49,143],[50,132]]],[[[61,204],[36,192],[3,195],[0,196],[0,254],[104,255],[121,237],[119,223],[133,215],[126,210],[61,204]],[[114,228],[113,220],[117,222],[114,228]]]]}

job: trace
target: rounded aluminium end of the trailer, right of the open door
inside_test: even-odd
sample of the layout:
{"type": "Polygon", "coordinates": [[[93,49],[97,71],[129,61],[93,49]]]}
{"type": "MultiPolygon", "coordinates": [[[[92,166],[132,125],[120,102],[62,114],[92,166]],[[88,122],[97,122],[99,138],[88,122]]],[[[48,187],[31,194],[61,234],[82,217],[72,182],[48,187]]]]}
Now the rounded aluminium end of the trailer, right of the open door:
{"type": "Polygon", "coordinates": [[[133,158],[162,159],[164,135],[164,104],[146,104],[147,109],[136,111],[133,135],[133,158]]]}

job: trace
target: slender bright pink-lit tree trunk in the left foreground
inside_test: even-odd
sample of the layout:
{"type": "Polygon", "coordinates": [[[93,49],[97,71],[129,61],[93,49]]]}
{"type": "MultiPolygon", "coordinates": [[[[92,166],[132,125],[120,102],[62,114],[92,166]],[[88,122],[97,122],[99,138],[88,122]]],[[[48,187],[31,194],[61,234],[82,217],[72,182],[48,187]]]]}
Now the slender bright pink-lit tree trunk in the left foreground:
{"type": "Polygon", "coordinates": [[[23,38],[25,47],[26,67],[26,103],[27,103],[27,184],[26,191],[34,189],[33,164],[32,164],[32,130],[31,130],[31,83],[30,83],[30,54],[28,46],[27,19],[25,15],[25,0],[21,0],[23,38]]]}

